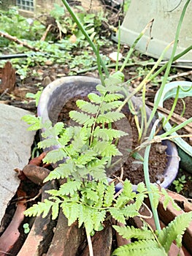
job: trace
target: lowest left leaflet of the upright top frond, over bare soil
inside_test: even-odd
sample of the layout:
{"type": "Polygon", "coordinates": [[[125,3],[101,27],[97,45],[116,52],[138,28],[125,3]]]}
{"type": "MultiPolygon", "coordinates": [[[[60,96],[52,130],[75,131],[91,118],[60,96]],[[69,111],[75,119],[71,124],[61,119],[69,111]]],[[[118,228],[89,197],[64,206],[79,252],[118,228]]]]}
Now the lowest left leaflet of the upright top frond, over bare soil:
{"type": "Polygon", "coordinates": [[[94,123],[94,118],[91,116],[88,116],[85,113],[78,112],[76,110],[72,110],[69,112],[70,118],[72,120],[77,121],[78,124],[84,124],[85,126],[91,127],[94,123]]]}

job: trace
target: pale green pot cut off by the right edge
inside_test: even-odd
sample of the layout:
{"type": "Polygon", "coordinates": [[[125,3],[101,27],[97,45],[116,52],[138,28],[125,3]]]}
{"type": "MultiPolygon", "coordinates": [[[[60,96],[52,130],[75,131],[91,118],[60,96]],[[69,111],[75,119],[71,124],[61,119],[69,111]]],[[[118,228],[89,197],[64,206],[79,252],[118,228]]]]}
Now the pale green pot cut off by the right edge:
{"type": "MultiPolygon", "coordinates": [[[[164,92],[161,96],[161,100],[159,102],[159,107],[164,107],[164,101],[171,97],[175,98],[177,94],[177,88],[181,86],[184,90],[179,91],[179,98],[184,97],[192,97],[192,83],[188,81],[175,81],[171,83],[167,83],[164,92]]],[[[159,91],[157,91],[155,95],[155,100],[157,99],[159,91]]],[[[192,100],[192,98],[191,98],[192,100]]],[[[164,118],[164,114],[158,113],[158,116],[164,118]]],[[[171,124],[168,122],[164,126],[166,131],[169,131],[172,128],[171,124]]],[[[177,136],[177,132],[173,132],[172,135],[177,136]]],[[[183,138],[173,138],[174,143],[178,146],[178,153],[180,156],[180,166],[188,172],[192,173],[192,146],[188,144],[183,138]]]]}

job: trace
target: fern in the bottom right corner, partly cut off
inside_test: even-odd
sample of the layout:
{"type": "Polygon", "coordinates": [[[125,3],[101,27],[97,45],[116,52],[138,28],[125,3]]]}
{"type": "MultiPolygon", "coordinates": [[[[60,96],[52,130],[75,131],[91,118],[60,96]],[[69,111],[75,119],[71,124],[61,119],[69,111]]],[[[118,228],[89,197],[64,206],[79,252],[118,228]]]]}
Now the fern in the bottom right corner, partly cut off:
{"type": "Polygon", "coordinates": [[[153,233],[147,230],[134,227],[113,226],[123,238],[137,238],[137,241],[131,244],[118,247],[112,255],[120,256],[137,256],[137,255],[168,255],[172,242],[175,241],[177,246],[182,246],[182,238],[186,228],[192,219],[192,211],[177,216],[168,226],[164,227],[160,233],[153,233]]]}

